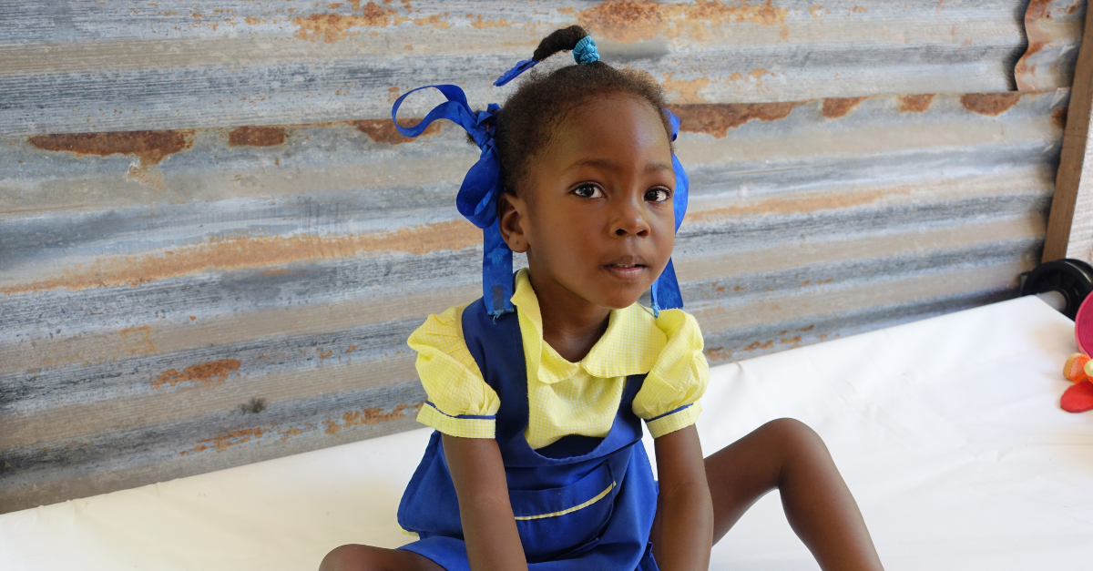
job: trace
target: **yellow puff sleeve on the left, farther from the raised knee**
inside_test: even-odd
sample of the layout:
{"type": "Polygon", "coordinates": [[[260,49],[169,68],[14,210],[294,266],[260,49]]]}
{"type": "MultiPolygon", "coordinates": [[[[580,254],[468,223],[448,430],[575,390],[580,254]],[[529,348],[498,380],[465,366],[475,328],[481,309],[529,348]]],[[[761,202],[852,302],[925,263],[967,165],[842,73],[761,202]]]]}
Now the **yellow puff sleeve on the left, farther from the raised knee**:
{"type": "Polygon", "coordinates": [[[450,436],[492,439],[501,400],[467,350],[463,307],[430,315],[407,340],[418,352],[418,375],[428,397],[418,422],[450,436]]]}

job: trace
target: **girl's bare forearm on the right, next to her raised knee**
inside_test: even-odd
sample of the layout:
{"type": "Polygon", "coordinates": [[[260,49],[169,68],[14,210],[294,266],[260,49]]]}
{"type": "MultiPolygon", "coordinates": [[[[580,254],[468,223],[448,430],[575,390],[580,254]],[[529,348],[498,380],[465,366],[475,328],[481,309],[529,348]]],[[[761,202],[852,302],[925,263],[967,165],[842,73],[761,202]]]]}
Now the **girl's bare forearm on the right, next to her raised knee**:
{"type": "MultiPolygon", "coordinates": [[[[654,441],[660,492],[659,541],[653,555],[665,571],[709,569],[714,545],[714,506],[706,483],[702,444],[694,424],[654,441]]],[[[654,535],[658,535],[654,531],[654,535]]]]}

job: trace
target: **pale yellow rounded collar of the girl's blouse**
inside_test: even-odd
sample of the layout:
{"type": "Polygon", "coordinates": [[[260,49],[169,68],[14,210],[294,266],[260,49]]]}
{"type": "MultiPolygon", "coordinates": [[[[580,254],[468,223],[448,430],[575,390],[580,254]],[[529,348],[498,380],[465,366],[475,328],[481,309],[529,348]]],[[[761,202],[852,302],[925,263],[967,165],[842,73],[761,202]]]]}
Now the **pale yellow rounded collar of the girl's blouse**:
{"type": "Polygon", "coordinates": [[[553,365],[551,369],[561,368],[569,373],[576,373],[579,368],[599,378],[645,374],[653,369],[668,342],[668,337],[657,327],[653,312],[635,302],[630,307],[612,310],[603,336],[584,359],[571,363],[543,342],[539,299],[531,288],[527,268],[516,273],[516,292],[512,302],[519,308],[517,315],[524,335],[524,352],[528,357],[528,378],[539,378],[543,383],[555,383],[562,378],[539,374],[539,366],[545,362],[553,365]]]}

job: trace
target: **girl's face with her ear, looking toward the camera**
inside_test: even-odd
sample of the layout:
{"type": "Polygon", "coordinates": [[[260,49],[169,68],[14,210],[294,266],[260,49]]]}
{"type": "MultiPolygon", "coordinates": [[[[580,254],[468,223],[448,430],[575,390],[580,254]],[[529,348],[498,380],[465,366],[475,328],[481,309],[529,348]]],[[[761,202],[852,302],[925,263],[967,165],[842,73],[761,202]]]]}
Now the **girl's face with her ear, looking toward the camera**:
{"type": "Polygon", "coordinates": [[[675,174],[657,113],[623,93],[585,103],[537,154],[519,196],[506,195],[502,235],[528,254],[540,296],[622,308],[663,271],[675,174]]]}

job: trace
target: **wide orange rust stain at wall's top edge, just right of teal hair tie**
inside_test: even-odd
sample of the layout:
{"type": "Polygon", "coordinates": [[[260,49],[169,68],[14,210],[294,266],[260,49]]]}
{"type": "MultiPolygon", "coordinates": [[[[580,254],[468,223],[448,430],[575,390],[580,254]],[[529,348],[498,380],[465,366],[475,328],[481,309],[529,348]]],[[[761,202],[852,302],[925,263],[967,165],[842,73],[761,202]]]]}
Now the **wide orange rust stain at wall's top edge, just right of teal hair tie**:
{"type": "MultiPolygon", "coordinates": [[[[630,44],[657,36],[689,35],[704,38],[707,28],[729,23],[763,26],[784,25],[788,10],[771,0],[751,4],[740,0],[726,4],[697,0],[694,4],[659,4],[650,0],[608,0],[577,13],[577,22],[613,42],[630,44]]],[[[785,32],[788,34],[788,32],[785,32]]]]}

